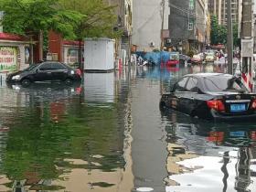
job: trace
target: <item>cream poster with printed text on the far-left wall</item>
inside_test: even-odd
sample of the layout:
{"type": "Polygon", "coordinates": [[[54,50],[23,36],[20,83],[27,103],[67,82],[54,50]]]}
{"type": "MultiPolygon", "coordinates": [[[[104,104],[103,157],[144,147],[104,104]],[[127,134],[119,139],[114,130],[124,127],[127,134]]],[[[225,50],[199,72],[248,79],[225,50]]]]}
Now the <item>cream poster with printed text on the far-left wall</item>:
{"type": "Polygon", "coordinates": [[[0,47],[0,72],[16,70],[17,50],[13,47],[0,47]]]}

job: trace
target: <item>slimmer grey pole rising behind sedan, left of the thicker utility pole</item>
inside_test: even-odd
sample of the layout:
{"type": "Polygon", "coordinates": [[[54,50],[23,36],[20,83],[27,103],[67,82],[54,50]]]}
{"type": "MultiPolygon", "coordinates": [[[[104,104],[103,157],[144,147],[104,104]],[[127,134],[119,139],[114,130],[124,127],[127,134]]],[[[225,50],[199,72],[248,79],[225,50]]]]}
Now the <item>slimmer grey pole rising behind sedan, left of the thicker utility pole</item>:
{"type": "Polygon", "coordinates": [[[231,0],[227,0],[227,14],[228,14],[228,73],[233,74],[233,29],[231,17],[231,0]]]}

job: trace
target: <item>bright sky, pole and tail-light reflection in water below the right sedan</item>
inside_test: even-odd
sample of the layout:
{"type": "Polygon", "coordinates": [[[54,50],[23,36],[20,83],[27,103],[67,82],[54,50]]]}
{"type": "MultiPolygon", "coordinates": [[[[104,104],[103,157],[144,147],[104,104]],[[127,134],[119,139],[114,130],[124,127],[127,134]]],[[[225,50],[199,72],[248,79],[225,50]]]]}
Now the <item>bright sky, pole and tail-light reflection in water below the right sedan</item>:
{"type": "Polygon", "coordinates": [[[169,152],[166,191],[256,189],[255,125],[209,123],[177,112],[163,118],[169,152]]]}

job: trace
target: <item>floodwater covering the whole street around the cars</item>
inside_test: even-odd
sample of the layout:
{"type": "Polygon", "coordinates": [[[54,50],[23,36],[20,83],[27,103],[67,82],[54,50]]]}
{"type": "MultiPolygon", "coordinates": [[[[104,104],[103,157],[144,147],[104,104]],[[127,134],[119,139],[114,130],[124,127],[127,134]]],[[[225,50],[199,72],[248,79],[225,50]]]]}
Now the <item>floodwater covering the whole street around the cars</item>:
{"type": "Polygon", "coordinates": [[[255,192],[256,125],[210,123],[158,103],[191,72],[86,73],[72,86],[0,87],[0,191],[255,192]]]}

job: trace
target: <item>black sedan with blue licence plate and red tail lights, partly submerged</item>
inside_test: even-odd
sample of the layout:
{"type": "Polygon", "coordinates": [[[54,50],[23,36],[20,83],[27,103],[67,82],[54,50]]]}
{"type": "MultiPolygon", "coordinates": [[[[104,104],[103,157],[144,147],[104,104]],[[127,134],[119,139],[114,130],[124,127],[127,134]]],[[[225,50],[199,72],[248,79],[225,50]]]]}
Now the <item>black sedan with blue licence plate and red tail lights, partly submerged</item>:
{"type": "Polygon", "coordinates": [[[189,74],[162,95],[160,109],[209,120],[256,121],[256,94],[229,74],[189,74]]]}

